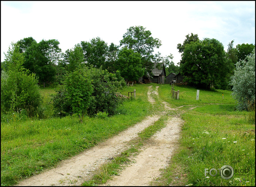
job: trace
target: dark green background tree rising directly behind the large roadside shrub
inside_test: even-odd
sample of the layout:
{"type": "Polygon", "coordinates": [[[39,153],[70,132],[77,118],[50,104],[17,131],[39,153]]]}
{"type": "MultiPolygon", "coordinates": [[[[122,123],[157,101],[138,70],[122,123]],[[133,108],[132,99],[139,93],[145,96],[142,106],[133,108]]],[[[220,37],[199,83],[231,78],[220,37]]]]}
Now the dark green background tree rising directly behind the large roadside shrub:
{"type": "Polygon", "coordinates": [[[90,42],[81,42],[85,63],[93,67],[107,69],[106,58],[108,46],[100,37],[92,38],[90,42]]]}

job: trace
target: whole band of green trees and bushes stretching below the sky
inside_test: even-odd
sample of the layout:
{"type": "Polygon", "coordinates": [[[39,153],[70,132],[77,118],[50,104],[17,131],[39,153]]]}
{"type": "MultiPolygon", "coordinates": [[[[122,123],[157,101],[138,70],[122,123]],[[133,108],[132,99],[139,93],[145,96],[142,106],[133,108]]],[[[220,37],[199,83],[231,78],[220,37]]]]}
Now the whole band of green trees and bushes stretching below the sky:
{"type": "MultiPolygon", "coordinates": [[[[23,38],[11,43],[1,62],[1,110],[25,110],[29,116],[42,114],[37,83],[43,87],[62,85],[53,97],[55,115],[77,113],[82,121],[85,114],[115,114],[121,100],[114,97],[114,92],[125,85],[125,80],[138,80],[147,73],[153,76],[154,62],[164,63],[167,75],[180,72],[190,85],[208,89],[233,89],[237,84],[230,82],[238,79],[234,78],[236,67],[246,69],[252,64],[247,62],[252,58],[248,56],[255,49],[253,44],[234,48],[231,41],[225,52],[222,43],[214,38],[199,40],[193,33],[185,37],[183,44],[177,45],[182,54],[180,66],[174,65],[171,53],[167,57],[161,57],[159,52],[153,54],[161,41],[143,26],[128,28],[119,46],[108,46],[96,37],[81,41],[64,53],[58,40],[37,43],[33,37],[23,38]]],[[[251,82],[249,86],[252,88],[251,82]]]]}

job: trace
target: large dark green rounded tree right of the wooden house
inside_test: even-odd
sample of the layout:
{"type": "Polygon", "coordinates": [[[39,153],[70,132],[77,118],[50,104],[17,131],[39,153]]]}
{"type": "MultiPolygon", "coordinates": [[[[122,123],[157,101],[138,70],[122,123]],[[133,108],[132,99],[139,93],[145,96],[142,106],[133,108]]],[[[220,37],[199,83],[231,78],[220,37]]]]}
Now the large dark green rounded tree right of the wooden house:
{"type": "Polygon", "coordinates": [[[185,45],[180,62],[184,81],[197,87],[226,89],[230,64],[222,43],[205,38],[185,45]]]}

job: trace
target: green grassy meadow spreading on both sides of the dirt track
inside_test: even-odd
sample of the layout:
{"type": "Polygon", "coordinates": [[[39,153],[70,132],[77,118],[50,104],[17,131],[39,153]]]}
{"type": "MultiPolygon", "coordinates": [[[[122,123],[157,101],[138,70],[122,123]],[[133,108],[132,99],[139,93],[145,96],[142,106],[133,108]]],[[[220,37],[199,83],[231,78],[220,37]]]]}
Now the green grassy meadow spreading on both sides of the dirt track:
{"type": "MultiPolygon", "coordinates": [[[[171,97],[170,85],[151,83],[120,90],[121,94],[128,95],[136,89],[136,99],[126,100],[117,115],[85,117],[82,124],[76,115],[52,117],[52,88],[41,90],[45,119],[26,118],[22,112],[1,114],[1,186],[15,185],[23,178],[54,167],[59,161],[90,149],[143,120],[156,110],[147,100],[149,85],[159,86],[159,98],[172,108],[176,107],[175,112],[181,112],[180,117],[184,120],[180,148],[153,185],[255,185],[255,110],[236,111],[235,100],[227,90],[200,90],[199,100],[196,100],[197,89],[175,86],[175,91],[180,90],[180,99],[176,100],[171,97]],[[209,173],[205,176],[205,168],[218,171],[223,165],[230,165],[237,171],[231,179],[209,173]]],[[[157,110],[162,109],[158,107],[157,110]]],[[[159,124],[163,127],[164,120],[159,124]]],[[[146,134],[147,137],[152,135],[146,134]]]]}

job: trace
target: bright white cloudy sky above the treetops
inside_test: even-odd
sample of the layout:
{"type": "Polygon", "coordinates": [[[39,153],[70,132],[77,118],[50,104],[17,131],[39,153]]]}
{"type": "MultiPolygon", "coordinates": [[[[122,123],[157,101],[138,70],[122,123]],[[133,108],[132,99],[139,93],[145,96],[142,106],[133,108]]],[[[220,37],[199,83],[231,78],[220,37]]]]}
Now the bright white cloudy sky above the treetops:
{"type": "Polygon", "coordinates": [[[215,38],[224,50],[232,40],[255,44],[255,1],[1,1],[1,62],[11,42],[56,39],[62,52],[100,37],[120,45],[131,26],[161,40],[155,49],[180,61],[177,44],[193,33],[215,38]]]}

